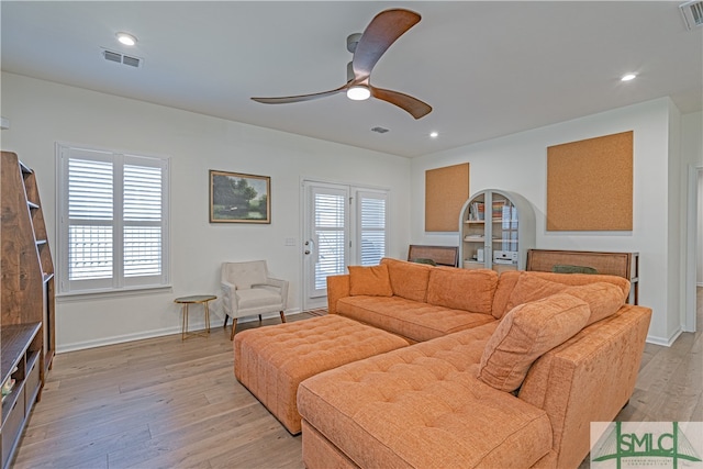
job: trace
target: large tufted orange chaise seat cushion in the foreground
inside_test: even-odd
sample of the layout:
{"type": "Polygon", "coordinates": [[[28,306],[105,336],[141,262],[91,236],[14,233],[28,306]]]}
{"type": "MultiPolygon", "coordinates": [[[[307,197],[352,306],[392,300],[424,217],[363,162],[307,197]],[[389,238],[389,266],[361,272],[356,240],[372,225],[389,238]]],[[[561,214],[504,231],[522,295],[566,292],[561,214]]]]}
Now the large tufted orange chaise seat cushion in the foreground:
{"type": "Polygon", "coordinates": [[[494,327],[312,377],[298,390],[300,413],[359,467],[529,467],[550,450],[551,426],[543,410],[476,378],[494,327]]]}

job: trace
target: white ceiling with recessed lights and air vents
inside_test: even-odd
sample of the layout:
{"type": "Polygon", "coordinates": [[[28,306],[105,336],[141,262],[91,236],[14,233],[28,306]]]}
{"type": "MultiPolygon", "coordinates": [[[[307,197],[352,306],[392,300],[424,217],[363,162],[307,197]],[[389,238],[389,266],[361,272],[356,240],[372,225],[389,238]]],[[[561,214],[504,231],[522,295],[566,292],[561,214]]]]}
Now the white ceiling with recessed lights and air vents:
{"type": "Polygon", "coordinates": [[[1,63],[3,71],[413,157],[665,96],[683,113],[700,111],[703,29],[685,29],[682,1],[2,0],[1,63]],[[422,21],[371,81],[429,103],[427,116],[344,94],[249,99],[342,86],[347,35],[388,8],[422,21]],[[119,44],[119,31],[136,46],[119,44]],[[101,47],[143,67],[107,62],[101,47]],[[638,78],[621,82],[627,71],[638,78]]]}

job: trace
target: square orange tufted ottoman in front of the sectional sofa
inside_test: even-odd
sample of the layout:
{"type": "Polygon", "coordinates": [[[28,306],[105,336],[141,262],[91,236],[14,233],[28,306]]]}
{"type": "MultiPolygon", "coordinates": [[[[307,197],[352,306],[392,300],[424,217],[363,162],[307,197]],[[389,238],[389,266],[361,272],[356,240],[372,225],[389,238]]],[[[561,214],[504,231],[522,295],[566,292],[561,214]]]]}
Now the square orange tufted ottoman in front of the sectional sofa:
{"type": "Polygon", "coordinates": [[[301,429],[301,381],[406,345],[397,335],[328,314],[237,333],[234,375],[294,435],[301,429]]]}

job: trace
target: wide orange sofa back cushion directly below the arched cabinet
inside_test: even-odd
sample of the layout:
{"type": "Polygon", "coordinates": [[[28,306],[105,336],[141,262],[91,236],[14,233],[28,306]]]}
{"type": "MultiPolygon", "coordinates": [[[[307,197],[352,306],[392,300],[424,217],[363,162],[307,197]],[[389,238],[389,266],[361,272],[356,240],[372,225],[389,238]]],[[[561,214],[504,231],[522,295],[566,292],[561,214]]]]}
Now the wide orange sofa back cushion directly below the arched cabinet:
{"type": "Polygon", "coordinates": [[[427,303],[453,310],[491,314],[498,272],[435,267],[429,272],[427,303]]]}

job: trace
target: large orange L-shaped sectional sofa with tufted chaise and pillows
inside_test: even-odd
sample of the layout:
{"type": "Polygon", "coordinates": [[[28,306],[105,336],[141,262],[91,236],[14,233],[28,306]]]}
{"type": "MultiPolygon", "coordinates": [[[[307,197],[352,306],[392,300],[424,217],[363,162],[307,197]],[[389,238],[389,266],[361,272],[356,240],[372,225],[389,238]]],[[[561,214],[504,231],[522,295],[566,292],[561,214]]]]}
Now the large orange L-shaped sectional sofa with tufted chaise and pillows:
{"type": "Polygon", "coordinates": [[[327,291],[331,314],[415,344],[302,381],[309,469],[578,467],[632,395],[651,316],[601,275],[386,258],[327,291]]]}

